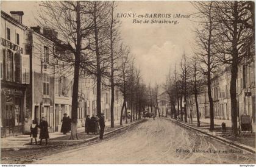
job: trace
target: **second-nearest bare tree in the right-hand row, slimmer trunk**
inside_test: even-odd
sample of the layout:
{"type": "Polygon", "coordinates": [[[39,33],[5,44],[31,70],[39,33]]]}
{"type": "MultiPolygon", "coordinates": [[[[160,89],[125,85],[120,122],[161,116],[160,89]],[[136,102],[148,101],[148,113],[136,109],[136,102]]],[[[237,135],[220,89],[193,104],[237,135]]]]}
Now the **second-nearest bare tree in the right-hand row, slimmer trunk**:
{"type": "Polygon", "coordinates": [[[210,105],[210,130],[214,129],[214,111],[212,98],[212,73],[216,72],[219,63],[216,59],[216,51],[213,44],[216,42],[216,20],[213,15],[213,1],[193,2],[194,7],[198,10],[196,14],[199,21],[199,29],[196,30],[196,51],[199,60],[199,70],[207,76],[207,93],[210,105]]]}

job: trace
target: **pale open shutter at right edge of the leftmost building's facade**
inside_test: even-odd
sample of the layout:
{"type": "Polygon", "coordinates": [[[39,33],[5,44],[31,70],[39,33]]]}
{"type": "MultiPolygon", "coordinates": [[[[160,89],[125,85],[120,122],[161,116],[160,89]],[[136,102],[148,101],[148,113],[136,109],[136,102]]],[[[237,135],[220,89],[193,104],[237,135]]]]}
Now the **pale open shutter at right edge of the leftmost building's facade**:
{"type": "Polygon", "coordinates": [[[29,84],[29,55],[22,55],[22,83],[29,84]]]}

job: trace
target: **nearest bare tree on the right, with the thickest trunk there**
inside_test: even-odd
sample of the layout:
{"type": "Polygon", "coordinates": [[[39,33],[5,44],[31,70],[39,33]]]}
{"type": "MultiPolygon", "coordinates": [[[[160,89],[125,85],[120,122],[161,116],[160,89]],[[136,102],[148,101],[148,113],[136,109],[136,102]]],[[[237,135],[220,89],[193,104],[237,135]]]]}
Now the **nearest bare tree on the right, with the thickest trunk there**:
{"type": "Polygon", "coordinates": [[[221,37],[218,38],[218,43],[215,43],[215,47],[219,51],[217,57],[221,63],[231,66],[231,118],[233,135],[236,136],[238,133],[238,105],[236,99],[238,66],[244,63],[245,57],[250,59],[254,55],[247,52],[248,49],[254,48],[252,43],[252,39],[254,39],[253,29],[242,23],[241,20],[252,23],[254,16],[252,16],[251,10],[247,9],[247,3],[242,1],[214,2],[213,5],[215,7],[215,18],[218,21],[218,35],[221,37]]]}

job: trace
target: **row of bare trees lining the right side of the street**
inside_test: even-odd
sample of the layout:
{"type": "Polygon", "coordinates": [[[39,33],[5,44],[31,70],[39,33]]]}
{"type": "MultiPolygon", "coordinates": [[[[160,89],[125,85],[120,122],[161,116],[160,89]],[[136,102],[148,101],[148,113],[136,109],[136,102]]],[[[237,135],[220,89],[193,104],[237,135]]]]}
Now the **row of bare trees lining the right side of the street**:
{"type": "MultiPolygon", "coordinates": [[[[168,76],[166,93],[176,118],[185,104],[187,122],[187,97],[194,96],[197,126],[200,126],[197,94],[202,84],[207,84],[210,105],[210,130],[214,129],[212,98],[213,74],[221,69],[231,69],[230,99],[233,135],[237,135],[236,79],[238,66],[255,61],[255,25],[253,1],[192,2],[197,10],[196,48],[191,56],[182,55],[180,71],[168,76]],[[185,103],[182,103],[184,99],[185,103]],[[175,106],[177,105],[177,112],[175,106]]],[[[183,112],[181,113],[183,114],[183,112]]],[[[183,118],[183,116],[182,116],[183,118]]]]}

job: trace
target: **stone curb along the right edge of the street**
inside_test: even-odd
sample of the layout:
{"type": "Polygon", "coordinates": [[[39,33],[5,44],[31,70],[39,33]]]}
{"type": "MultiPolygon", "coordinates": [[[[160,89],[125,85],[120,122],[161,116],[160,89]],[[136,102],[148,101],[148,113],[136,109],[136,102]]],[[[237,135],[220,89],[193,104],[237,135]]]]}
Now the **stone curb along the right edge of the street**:
{"type": "Polygon", "coordinates": [[[236,147],[238,147],[240,149],[244,149],[246,151],[249,151],[249,152],[255,154],[255,148],[254,147],[246,146],[244,144],[238,143],[236,141],[229,140],[227,138],[218,137],[218,136],[212,135],[210,133],[203,132],[202,130],[196,129],[195,127],[188,126],[187,124],[184,124],[184,123],[180,123],[180,122],[174,121],[173,119],[169,119],[169,120],[172,121],[172,123],[176,123],[176,124],[179,124],[180,126],[188,127],[189,129],[193,129],[193,130],[196,130],[197,132],[204,133],[205,135],[208,135],[208,136],[214,138],[215,140],[222,141],[223,143],[236,146],[236,147]]]}

